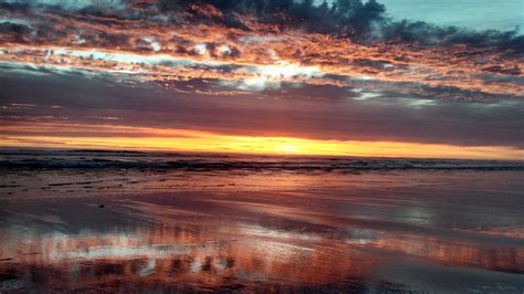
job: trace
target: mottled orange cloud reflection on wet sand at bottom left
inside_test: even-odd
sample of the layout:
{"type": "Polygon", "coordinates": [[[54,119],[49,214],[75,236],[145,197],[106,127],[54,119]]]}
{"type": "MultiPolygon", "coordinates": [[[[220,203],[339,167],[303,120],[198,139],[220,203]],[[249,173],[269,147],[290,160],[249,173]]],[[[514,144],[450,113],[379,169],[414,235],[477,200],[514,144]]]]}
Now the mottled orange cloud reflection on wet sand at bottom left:
{"type": "Polygon", "coordinates": [[[373,263],[371,259],[356,259],[340,241],[334,244],[253,225],[218,228],[214,233],[155,225],[147,231],[21,239],[13,242],[15,246],[2,249],[4,287],[7,283],[20,288],[53,288],[65,283],[73,290],[94,285],[130,290],[306,287],[363,282],[373,263]]]}

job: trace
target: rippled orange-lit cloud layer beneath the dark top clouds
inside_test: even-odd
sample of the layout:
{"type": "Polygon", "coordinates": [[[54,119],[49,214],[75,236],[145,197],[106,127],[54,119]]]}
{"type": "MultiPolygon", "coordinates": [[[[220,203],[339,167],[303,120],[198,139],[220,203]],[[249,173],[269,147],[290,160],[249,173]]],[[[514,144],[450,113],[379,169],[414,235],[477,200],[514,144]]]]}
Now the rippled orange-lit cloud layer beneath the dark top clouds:
{"type": "MultiPolygon", "coordinates": [[[[219,12],[209,10],[213,15],[219,12]]],[[[524,72],[520,57],[489,46],[359,44],[329,34],[282,31],[274,24],[260,23],[249,17],[242,20],[250,30],[212,22],[171,24],[49,11],[44,17],[53,24],[53,32],[49,32],[53,38],[20,40],[7,34],[0,48],[0,62],[123,71],[164,82],[265,78],[352,86],[355,78],[366,78],[389,83],[386,87],[402,87],[396,84],[411,83],[429,88],[451,87],[495,96],[524,96],[524,85],[518,80],[524,72]],[[185,63],[174,65],[176,60],[185,63]],[[195,63],[201,66],[191,66],[195,63]],[[256,71],[258,67],[280,66],[282,63],[315,67],[324,77],[312,81],[314,76],[301,72],[286,75],[285,69],[282,69],[282,76],[265,76],[256,71]]],[[[415,94],[419,93],[415,91],[415,94]]],[[[441,97],[482,99],[474,94],[460,97],[442,94],[441,97]]]]}

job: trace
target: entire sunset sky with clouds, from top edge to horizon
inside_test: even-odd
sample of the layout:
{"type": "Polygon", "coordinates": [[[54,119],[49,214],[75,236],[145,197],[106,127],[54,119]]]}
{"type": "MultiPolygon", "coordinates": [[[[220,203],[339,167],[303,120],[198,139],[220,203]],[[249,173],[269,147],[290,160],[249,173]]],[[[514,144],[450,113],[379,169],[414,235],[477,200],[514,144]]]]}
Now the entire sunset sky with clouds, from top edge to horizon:
{"type": "Polygon", "coordinates": [[[518,21],[512,0],[0,0],[0,146],[523,159],[518,21]]]}

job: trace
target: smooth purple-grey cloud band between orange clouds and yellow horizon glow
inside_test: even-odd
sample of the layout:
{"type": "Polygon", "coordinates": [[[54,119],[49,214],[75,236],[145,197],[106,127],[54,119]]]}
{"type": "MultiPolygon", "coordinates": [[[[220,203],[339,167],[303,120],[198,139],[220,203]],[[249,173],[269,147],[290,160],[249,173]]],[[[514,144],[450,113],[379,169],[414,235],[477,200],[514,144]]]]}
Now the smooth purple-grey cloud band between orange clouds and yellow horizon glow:
{"type": "Polygon", "coordinates": [[[130,82],[74,72],[2,75],[0,83],[11,85],[2,94],[2,105],[38,106],[0,109],[1,125],[94,124],[93,117],[118,117],[101,122],[243,136],[524,147],[522,101],[434,101],[394,91],[289,83],[256,93],[229,93],[227,86],[202,80],[172,82],[176,88],[130,82]],[[62,107],[50,108],[53,105],[62,107]]]}

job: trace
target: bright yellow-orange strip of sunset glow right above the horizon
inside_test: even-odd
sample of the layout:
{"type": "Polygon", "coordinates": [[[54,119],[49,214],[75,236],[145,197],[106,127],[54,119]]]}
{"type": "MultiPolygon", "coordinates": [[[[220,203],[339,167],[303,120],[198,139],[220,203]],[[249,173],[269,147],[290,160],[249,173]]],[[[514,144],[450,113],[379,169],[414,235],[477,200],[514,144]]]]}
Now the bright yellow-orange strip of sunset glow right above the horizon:
{"type": "MultiPolygon", "coordinates": [[[[13,126],[10,129],[4,129],[4,132],[8,130],[11,130],[11,134],[15,130],[18,135],[3,134],[0,137],[0,146],[2,147],[517,160],[524,158],[524,150],[505,146],[469,147],[379,140],[323,140],[277,136],[231,136],[191,129],[114,125],[50,124],[46,126],[13,126]],[[107,132],[111,133],[111,136],[107,135],[107,132]],[[30,134],[24,135],[24,133],[30,134]],[[34,133],[41,133],[41,135],[35,135],[34,133]],[[52,135],[53,133],[61,134],[52,135]],[[77,135],[82,133],[82,136],[77,135]]],[[[1,132],[0,135],[2,135],[1,132]]]]}

